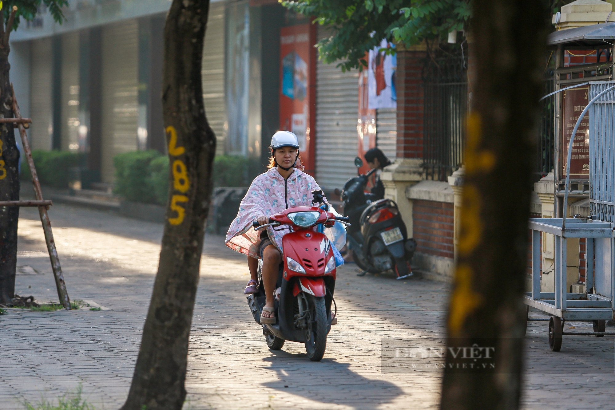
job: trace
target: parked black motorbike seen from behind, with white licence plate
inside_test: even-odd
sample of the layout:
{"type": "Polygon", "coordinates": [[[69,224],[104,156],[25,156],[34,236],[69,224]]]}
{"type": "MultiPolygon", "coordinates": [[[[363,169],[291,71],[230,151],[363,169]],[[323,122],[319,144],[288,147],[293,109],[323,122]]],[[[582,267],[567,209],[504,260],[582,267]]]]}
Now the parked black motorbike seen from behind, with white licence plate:
{"type": "MultiPolygon", "coordinates": [[[[360,168],[363,160],[356,157],[354,164],[360,168]]],[[[344,216],[351,223],[347,228],[349,250],[357,266],[366,272],[378,274],[393,269],[397,279],[407,278],[413,275],[410,261],[416,241],[408,239],[406,224],[395,201],[376,200],[375,195],[364,192],[375,171],[349,179],[339,192],[344,202],[344,216]]]]}

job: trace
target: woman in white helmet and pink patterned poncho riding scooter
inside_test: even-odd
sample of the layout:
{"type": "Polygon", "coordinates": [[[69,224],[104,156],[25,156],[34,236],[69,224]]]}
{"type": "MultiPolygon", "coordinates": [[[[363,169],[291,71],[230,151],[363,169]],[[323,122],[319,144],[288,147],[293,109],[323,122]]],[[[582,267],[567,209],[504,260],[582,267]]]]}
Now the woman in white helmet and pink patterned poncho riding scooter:
{"type": "MultiPolygon", "coordinates": [[[[263,285],[266,295],[260,321],[264,325],[276,323],[274,290],[282,262],[282,237],[288,227],[267,227],[258,234],[252,223],[266,224],[269,216],[287,208],[311,206],[312,191],[320,187],[314,178],[293,168],[299,157],[299,143],[294,133],[278,131],[271,138],[269,170],[257,176],[239,205],[237,218],[229,227],[224,241],[232,250],[263,259],[263,285]]],[[[249,261],[249,259],[248,259],[249,261]]],[[[248,283],[250,285],[250,283],[248,283]]]]}

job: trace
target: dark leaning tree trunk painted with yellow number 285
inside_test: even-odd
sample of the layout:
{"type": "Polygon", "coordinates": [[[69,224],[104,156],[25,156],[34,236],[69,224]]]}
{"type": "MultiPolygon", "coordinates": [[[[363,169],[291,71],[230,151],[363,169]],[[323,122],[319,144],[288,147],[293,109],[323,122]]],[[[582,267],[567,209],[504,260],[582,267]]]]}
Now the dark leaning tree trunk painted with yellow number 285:
{"type": "Polygon", "coordinates": [[[201,60],[208,0],[173,0],[164,28],[162,106],[169,209],[141,348],[124,410],[181,409],[188,337],[212,192],[215,135],[205,118],[201,60]]]}

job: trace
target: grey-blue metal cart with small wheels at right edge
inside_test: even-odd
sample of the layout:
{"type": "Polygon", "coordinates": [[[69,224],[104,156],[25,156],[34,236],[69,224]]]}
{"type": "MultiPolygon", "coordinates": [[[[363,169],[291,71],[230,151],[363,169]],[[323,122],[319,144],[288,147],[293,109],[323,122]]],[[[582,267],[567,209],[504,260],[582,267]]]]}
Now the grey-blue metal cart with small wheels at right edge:
{"type": "MultiPolygon", "coordinates": [[[[615,23],[608,26],[615,39],[615,23]]],[[[576,29],[571,29],[576,30],[576,29]]],[[[570,163],[573,144],[589,148],[589,200],[587,218],[533,218],[532,290],[525,295],[525,304],[549,313],[549,346],[561,348],[561,336],[602,337],[606,320],[614,319],[615,297],[615,81],[590,81],[586,84],[589,103],[577,117],[569,138],[566,181],[563,189],[563,212],[566,213],[570,185],[570,163]],[[589,112],[589,130],[577,134],[579,124],[589,112]],[[554,235],[555,291],[541,293],[541,235],[554,235]],[[585,293],[569,293],[566,281],[566,239],[585,238],[585,293]],[[593,332],[564,332],[563,321],[592,321],[593,332]]],[[[565,89],[562,89],[565,90],[565,89]]],[[[580,149],[578,150],[581,151],[580,149]]],[[[577,184],[578,185],[578,184],[577,184]]],[[[557,190],[556,190],[557,192],[557,190]]],[[[561,191],[560,191],[561,192],[561,191]]],[[[580,215],[575,215],[576,217],[580,215]]],[[[576,263],[571,261],[571,265],[576,263]]]]}

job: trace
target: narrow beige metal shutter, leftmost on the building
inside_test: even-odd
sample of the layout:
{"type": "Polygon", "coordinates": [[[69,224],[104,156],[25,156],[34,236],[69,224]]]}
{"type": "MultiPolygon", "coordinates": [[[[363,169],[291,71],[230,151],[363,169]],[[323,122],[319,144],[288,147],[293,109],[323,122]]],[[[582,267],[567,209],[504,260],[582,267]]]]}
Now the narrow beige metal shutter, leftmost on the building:
{"type": "Polygon", "coordinates": [[[51,37],[33,40],[31,47],[30,115],[32,125],[30,140],[32,149],[49,151],[51,136],[54,133],[51,101],[53,84],[51,37]]]}

